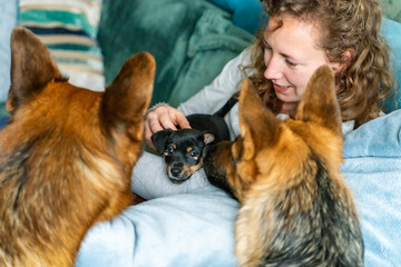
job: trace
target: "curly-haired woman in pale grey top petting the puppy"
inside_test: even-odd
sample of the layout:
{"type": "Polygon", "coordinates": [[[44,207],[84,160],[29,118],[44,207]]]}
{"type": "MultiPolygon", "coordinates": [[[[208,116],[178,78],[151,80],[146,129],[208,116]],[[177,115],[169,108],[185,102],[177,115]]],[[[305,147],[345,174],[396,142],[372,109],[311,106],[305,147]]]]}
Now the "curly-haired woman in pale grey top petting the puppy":
{"type": "MultiPolygon", "coordinates": [[[[312,73],[331,67],[343,119],[343,134],[380,116],[391,89],[389,48],[379,34],[381,10],[374,0],[264,0],[268,24],[256,43],[229,61],[222,73],[178,109],[157,105],[146,117],[147,144],[165,128],[188,128],[185,115],[213,113],[248,77],[264,103],[278,117],[292,116],[312,73]]],[[[202,75],[202,73],[199,73],[202,75]]],[[[238,132],[237,106],[226,117],[234,139],[238,132]]],[[[207,185],[203,171],[187,182],[173,185],[163,160],[144,154],[134,169],[133,190],[153,198],[207,185]],[[151,166],[151,169],[149,169],[151,166]]]]}

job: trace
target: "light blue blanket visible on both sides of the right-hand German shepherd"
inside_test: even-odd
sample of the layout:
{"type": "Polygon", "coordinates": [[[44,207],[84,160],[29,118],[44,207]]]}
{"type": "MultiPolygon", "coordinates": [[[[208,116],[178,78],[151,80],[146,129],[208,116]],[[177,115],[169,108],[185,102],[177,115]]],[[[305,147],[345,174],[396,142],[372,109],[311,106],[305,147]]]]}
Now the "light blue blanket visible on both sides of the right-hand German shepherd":
{"type": "MultiPolygon", "coordinates": [[[[341,169],[360,214],[365,266],[400,266],[401,110],[350,132],[341,169]]],[[[88,233],[77,266],[235,266],[237,208],[212,186],[130,207],[88,233]]]]}

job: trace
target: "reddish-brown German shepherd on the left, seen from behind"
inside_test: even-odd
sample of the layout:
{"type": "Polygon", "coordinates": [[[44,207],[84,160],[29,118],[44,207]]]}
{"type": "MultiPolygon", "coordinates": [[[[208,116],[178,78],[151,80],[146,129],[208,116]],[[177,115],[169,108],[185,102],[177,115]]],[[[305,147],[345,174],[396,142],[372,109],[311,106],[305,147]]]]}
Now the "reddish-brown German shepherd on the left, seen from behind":
{"type": "Polygon", "coordinates": [[[0,266],[74,266],[95,224],[130,205],[155,60],[129,58],[105,92],[60,75],[29,30],[11,34],[9,123],[0,131],[0,266]]]}

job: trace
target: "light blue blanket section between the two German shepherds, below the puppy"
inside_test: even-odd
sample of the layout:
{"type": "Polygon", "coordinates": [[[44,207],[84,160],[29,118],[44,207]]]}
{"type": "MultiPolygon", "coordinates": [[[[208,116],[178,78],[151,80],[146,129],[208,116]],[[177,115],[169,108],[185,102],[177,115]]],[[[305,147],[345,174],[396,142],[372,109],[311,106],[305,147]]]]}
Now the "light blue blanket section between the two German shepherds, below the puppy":
{"type": "Polygon", "coordinates": [[[213,186],[133,206],[88,233],[76,266],[235,266],[237,208],[213,186]]]}

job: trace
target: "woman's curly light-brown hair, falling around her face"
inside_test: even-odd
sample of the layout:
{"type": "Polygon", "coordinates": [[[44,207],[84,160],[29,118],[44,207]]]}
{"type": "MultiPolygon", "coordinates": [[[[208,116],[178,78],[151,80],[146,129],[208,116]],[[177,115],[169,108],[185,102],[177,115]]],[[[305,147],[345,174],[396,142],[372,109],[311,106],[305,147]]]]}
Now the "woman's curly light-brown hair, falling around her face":
{"type": "MultiPolygon", "coordinates": [[[[336,73],[336,93],[343,121],[355,120],[355,127],[376,118],[384,97],[392,87],[389,69],[389,48],[379,34],[381,9],[374,0],[263,0],[270,17],[281,23],[282,14],[317,22],[320,39],[316,43],[330,62],[345,63],[336,73]],[[351,51],[351,59],[344,52],[351,51]]],[[[264,78],[263,32],[256,34],[253,47],[255,72],[251,80],[256,85],[264,102],[273,110],[281,109],[271,81],[264,78]]]]}

